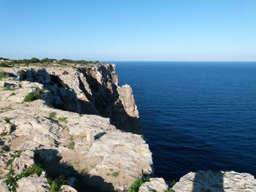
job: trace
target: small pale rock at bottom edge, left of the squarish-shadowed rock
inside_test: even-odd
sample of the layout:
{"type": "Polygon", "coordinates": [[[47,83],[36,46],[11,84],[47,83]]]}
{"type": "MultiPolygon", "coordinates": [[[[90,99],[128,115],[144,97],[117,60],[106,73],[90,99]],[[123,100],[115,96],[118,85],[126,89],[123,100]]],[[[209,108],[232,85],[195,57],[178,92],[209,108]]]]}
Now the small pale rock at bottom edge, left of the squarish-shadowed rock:
{"type": "Polygon", "coordinates": [[[165,192],[168,185],[163,178],[151,178],[140,186],[139,192],[165,192]]]}

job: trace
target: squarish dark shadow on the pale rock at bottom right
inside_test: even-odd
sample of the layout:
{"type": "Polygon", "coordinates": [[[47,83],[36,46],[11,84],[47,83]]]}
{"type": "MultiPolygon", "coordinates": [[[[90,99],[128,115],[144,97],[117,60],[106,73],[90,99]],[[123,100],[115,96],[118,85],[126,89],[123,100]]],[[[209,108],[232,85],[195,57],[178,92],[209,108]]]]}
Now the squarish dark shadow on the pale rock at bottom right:
{"type": "Polygon", "coordinates": [[[196,172],[192,192],[224,192],[222,172],[196,172]]]}

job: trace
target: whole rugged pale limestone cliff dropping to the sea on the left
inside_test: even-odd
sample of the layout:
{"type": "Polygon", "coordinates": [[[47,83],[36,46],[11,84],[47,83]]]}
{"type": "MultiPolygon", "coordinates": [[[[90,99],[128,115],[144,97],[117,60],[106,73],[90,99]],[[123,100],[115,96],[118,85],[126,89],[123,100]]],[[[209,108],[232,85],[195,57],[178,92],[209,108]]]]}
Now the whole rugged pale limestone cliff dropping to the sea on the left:
{"type": "Polygon", "coordinates": [[[2,70],[0,191],[49,191],[60,178],[62,191],[125,191],[152,173],[132,88],[118,86],[115,65],[2,70]]]}

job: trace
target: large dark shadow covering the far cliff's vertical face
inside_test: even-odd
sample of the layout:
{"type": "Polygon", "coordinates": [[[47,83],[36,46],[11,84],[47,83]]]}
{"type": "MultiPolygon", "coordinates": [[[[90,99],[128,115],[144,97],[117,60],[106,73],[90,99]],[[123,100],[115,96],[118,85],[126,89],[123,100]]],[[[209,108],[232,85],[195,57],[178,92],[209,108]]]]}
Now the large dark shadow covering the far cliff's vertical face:
{"type": "Polygon", "coordinates": [[[89,84],[91,93],[86,91],[86,86],[78,76],[78,87],[88,101],[78,99],[77,94],[69,88],[58,76],[48,74],[45,69],[20,71],[19,79],[31,82],[39,82],[48,93],[42,96],[45,103],[59,110],[78,112],[80,114],[101,115],[110,118],[110,123],[116,128],[134,134],[142,134],[140,118],[127,114],[118,94],[118,87],[113,82],[110,72],[102,67],[103,81],[100,84],[91,74],[91,69],[79,69],[86,82],[89,84]],[[108,74],[108,75],[107,75],[108,74]]]}

